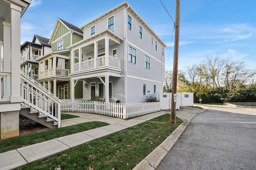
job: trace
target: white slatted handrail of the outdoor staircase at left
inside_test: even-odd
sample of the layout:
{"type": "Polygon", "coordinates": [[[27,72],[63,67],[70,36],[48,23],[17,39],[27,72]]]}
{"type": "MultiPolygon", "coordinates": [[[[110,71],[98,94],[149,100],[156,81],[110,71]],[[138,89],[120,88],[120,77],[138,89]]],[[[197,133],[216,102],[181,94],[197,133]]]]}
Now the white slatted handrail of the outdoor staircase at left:
{"type": "Polygon", "coordinates": [[[20,71],[20,94],[24,106],[32,107],[39,111],[40,115],[53,119],[60,127],[60,99],[22,71],[20,71]]]}

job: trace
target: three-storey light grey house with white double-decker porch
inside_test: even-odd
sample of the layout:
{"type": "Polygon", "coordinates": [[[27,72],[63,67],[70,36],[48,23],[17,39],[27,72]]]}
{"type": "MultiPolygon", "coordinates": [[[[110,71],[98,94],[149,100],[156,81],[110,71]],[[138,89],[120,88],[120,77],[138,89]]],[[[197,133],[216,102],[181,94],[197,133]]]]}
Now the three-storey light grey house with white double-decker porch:
{"type": "Polygon", "coordinates": [[[80,27],[83,40],[71,50],[71,98],[83,81],[84,100],[144,102],[162,93],[166,44],[123,2],[80,27]]]}

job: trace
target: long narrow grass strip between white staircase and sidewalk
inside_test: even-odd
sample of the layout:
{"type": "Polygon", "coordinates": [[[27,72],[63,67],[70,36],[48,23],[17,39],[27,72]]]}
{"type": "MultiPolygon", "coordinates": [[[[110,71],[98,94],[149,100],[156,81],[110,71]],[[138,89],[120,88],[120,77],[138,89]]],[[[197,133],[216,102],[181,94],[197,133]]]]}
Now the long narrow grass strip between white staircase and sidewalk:
{"type": "Polygon", "coordinates": [[[58,129],[50,129],[48,131],[43,131],[43,132],[31,134],[31,135],[24,135],[20,137],[1,140],[0,153],[21,148],[27,145],[32,145],[35,143],[48,141],[50,139],[71,135],[73,133],[78,133],[78,132],[94,129],[97,127],[106,126],[106,125],[108,125],[108,123],[100,122],[100,121],[92,121],[92,122],[80,123],[77,125],[71,125],[67,127],[61,127],[58,129]]]}

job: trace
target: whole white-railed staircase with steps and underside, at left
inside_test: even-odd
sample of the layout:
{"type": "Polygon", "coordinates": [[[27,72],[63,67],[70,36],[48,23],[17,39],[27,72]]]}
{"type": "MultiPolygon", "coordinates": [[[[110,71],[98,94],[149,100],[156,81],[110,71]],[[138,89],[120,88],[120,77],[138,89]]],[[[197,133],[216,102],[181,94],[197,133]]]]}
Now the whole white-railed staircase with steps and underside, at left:
{"type": "Polygon", "coordinates": [[[61,126],[61,101],[58,97],[22,71],[20,72],[20,88],[22,97],[21,115],[51,129],[61,126]],[[51,106],[54,106],[54,108],[51,106]]]}

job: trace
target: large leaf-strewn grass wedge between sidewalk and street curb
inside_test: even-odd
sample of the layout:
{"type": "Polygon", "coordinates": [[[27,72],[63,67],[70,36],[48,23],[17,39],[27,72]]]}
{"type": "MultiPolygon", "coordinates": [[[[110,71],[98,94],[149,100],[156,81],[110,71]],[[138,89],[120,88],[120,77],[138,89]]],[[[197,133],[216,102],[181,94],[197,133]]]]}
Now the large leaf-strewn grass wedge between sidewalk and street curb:
{"type": "Polygon", "coordinates": [[[54,170],[59,166],[63,170],[129,170],[182,123],[179,118],[177,121],[173,125],[170,114],[165,114],[18,169],[54,170]]]}

